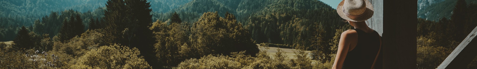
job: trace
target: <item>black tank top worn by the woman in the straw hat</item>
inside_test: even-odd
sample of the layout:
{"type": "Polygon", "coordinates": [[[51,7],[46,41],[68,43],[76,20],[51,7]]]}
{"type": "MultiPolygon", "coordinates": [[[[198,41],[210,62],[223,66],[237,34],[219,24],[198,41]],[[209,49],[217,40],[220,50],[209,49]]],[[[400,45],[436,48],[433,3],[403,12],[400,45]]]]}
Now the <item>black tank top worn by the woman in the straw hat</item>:
{"type": "Polygon", "coordinates": [[[358,43],[349,51],[343,63],[343,69],[371,69],[380,47],[378,32],[366,33],[354,29],[358,33],[358,43]]]}

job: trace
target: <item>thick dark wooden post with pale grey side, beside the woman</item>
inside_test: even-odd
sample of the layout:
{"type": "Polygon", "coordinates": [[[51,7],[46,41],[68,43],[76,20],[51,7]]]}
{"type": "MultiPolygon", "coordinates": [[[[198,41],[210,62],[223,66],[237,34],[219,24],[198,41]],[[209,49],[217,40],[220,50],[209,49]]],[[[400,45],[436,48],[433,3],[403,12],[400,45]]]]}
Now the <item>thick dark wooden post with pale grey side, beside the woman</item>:
{"type": "Polygon", "coordinates": [[[367,23],[383,36],[382,68],[376,69],[416,69],[417,1],[370,1],[374,15],[367,23]]]}

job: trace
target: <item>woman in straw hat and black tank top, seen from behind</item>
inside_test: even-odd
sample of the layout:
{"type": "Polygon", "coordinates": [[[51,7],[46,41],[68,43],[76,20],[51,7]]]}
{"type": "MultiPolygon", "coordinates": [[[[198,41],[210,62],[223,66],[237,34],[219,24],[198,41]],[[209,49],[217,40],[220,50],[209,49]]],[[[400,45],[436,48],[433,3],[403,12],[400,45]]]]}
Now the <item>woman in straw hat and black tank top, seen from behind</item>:
{"type": "Polygon", "coordinates": [[[355,29],[341,34],[332,69],[373,69],[381,36],[364,22],[373,16],[373,6],[368,0],[343,0],[336,11],[355,29]]]}

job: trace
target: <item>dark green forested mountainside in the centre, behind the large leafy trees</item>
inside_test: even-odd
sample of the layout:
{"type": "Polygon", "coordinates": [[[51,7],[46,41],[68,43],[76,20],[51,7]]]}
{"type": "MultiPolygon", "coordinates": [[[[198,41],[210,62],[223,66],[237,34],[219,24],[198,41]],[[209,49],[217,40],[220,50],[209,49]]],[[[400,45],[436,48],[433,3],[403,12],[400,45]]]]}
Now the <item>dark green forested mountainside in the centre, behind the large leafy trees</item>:
{"type": "MultiPolygon", "coordinates": [[[[300,42],[308,41],[310,40],[308,38],[311,37],[305,36],[317,34],[317,32],[311,32],[311,30],[317,29],[311,27],[314,25],[330,26],[325,27],[329,32],[326,35],[329,37],[328,40],[334,36],[334,29],[339,29],[344,25],[342,18],[336,14],[335,9],[318,0],[193,0],[173,10],[173,12],[181,15],[181,19],[185,22],[195,22],[198,18],[195,16],[204,12],[215,11],[220,16],[224,16],[223,14],[226,12],[236,14],[237,21],[244,26],[248,26],[247,28],[249,28],[256,43],[278,43],[295,46],[298,44],[294,44],[294,42],[299,42],[295,38],[304,38],[300,39],[300,42]],[[292,31],[299,30],[301,32],[290,34],[292,31]]],[[[154,16],[170,16],[170,13],[173,12],[154,16]]],[[[158,18],[162,21],[168,21],[167,19],[168,17],[158,18]]],[[[309,45],[311,43],[306,42],[303,46],[309,45]]]]}

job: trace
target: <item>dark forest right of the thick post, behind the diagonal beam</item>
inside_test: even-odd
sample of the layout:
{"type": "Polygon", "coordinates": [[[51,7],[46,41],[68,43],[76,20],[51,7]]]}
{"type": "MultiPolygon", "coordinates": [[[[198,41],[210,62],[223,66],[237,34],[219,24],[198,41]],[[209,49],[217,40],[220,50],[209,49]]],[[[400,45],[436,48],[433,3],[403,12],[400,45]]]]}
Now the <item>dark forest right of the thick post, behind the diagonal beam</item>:
{"type": "MultiPolygon", "coordinates": [[[[477,4],[457,0],[450,18],[417,18],[417,68],[435,69],[477,26],[477,4]]],[[[477,68],[477,57],[467,69],[477,68]]]]}

